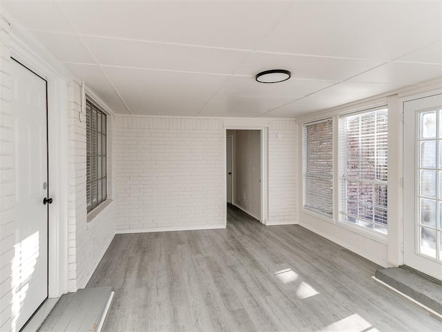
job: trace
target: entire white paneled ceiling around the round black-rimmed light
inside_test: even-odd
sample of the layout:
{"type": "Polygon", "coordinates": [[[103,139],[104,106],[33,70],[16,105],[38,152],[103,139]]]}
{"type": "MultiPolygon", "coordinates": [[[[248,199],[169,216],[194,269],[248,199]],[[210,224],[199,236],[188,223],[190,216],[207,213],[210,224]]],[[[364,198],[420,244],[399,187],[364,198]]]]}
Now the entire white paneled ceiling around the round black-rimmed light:
{"type": "Polygon", "coordinates": [[[2,3],[115,113],[294,118],[442,77],[442,1],[2,3]]]}

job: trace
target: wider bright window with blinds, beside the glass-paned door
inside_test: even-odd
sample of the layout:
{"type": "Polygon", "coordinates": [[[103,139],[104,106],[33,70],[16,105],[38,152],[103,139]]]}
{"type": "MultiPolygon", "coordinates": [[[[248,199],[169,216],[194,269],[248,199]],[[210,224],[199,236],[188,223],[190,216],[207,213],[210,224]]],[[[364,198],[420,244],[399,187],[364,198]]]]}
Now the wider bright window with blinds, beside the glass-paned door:
{"type": "Polygon", "coordinates": [[[387,109],[340,118],[340,215],[387,234],[387,109]]]}

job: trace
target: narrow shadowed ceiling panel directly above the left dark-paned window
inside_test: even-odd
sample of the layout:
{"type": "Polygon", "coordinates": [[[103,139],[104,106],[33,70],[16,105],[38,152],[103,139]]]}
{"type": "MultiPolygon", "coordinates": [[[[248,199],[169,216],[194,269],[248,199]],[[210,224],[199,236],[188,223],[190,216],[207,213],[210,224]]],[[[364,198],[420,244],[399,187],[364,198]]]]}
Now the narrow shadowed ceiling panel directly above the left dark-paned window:
{"type": "Polygon", "coordinates": [[[111,107],[111,111],[116,114],[129,113],[99,66],[86,64],[66,64],[66,66],[80,80],[84,81],[86,86],[101,98],[108,107],[111,107]]]}

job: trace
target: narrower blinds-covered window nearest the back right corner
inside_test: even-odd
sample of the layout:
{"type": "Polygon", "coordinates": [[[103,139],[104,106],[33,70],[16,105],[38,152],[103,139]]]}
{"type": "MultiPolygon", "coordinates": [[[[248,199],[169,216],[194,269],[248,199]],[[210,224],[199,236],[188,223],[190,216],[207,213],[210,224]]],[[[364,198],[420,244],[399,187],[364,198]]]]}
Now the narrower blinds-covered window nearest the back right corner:
{"type": "Polygon", "coordinates": [[[304,124],[304,208],[333,215],[333,122],[304,124]]]}

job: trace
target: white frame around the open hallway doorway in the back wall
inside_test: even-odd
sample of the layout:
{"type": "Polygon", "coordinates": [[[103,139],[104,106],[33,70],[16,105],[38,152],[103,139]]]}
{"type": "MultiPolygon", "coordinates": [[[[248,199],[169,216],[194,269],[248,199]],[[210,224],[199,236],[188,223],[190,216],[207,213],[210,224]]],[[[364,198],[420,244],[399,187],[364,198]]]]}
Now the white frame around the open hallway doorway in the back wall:
{"type": "MultiPolygon", "coordinates": [[[[224,127],[224,202],[227,201],[227,130],[258,130],[260,131],[260,145],[261,145],[261,218],[260,222],[267,224],[269,221],[269,156],[268,156],[268,142],[269,142],[269,128],[268,127],[224,127]]],[[[234,148],[234,145],[233,145],[234,148]]],[[[233,175],[235,169],[233,168],[233,175]]],[[[234,178],[232,179],[235,187],[234,178]]],[[[233,200],[234,200],[233,196],[233,200]]],[[[227,209],[227,208],[226,208],[227,209]]],[[[225,214],[225,222],[227,224],[227,212],[225,214]]]]}

